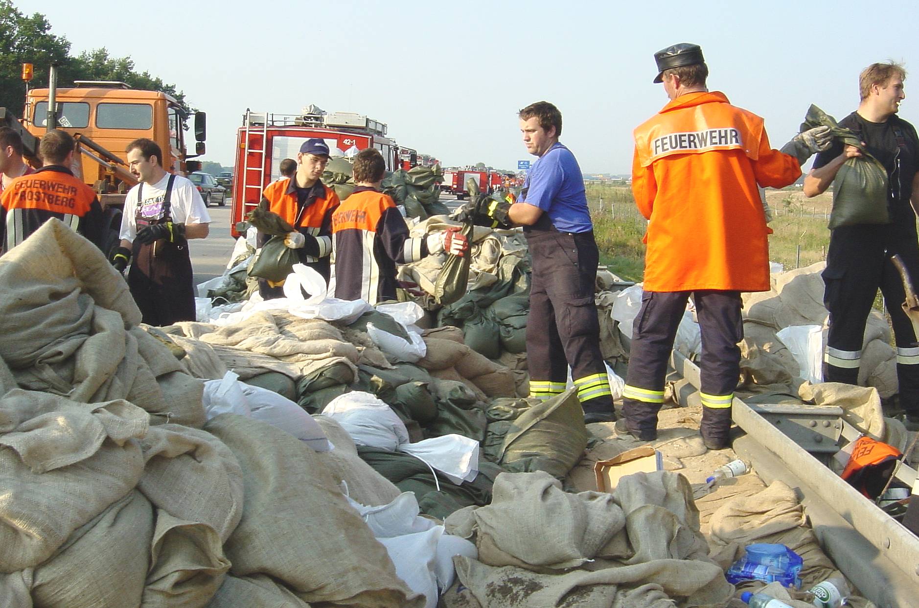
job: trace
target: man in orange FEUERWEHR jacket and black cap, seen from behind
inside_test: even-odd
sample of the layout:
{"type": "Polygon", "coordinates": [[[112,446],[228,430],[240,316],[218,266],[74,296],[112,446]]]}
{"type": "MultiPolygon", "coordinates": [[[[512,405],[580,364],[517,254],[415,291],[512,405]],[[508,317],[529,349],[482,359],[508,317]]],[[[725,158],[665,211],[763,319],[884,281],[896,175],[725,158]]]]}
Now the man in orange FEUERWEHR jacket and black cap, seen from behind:
{"type": "Polygon", "coordinates": [[[695,44],[654,53],[670,103],[635,132],[632,191],[648,218],[644,293],[635,319],[619,432],[657,438],[664,376],[690,295],[702,332],[702,439],[727,447],[740,375],[741,292],[769,289],[766,214],[758,186],[781,188],[832,142],[829,129],[772,150],[763,119],[709,93],[695,44]]]}

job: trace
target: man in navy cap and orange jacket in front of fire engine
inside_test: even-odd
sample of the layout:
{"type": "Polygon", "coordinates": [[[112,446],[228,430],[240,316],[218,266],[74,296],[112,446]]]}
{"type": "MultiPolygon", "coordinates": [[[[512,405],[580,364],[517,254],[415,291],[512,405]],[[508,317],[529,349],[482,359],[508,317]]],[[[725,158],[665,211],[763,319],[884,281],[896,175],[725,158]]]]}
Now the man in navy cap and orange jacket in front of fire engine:
{"type": "MultiPolygon", "coordinates": [[[[332,254],[332,212],[338,207],[335,190],[323,185],[325,165],[329,162],[329,146],[322,139],[303,142],[297,154],[297,171],[290,178],[280,178],[262,193],[260,209],[277,213],[294,230],[284,244],[297,252],[300,262],[323,275],[329,281],[329,256],[332,254]]],[[[258,247],[264,247],[271,235],[259,232],[258,247]]],[[[284,297],[278,283],[260,278],[258,293],[266,300],[284,297]]]]}

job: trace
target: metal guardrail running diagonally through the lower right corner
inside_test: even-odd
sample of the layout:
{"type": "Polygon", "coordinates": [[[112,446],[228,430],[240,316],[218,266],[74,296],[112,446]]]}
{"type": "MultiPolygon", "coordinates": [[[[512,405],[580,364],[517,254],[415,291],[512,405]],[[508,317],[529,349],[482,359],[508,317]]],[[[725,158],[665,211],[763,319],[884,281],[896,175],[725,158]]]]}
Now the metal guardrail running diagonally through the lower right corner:
{"type": "MultiPolygon", "coordinates": [[[[671,362],[700,387],[695,363],[676,350],[671,362]]],[[[767,483],[779,479],[795,488],[824,552],[846,578],[880,608],[919,605],[919,538],[741,399],[734,398],[732,416],[746,432],[734,441],[734,450],[749,458],[767,483]]],[[[901,468],[898,477],[914,478],[912,469],[901,468]]]]}

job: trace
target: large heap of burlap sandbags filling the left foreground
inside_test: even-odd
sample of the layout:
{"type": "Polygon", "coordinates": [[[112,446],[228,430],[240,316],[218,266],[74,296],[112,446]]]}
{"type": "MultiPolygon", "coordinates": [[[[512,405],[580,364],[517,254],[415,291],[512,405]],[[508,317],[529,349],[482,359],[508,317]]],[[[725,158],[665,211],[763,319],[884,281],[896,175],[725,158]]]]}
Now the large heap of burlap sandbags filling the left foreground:
{"type": "Polygon", "coordinates": [[[0,288],[0,605],[424,605],[340,484],[398,490],[347,446],[205,424],[202,383],[82,236],[44,224],[0,288]]]}

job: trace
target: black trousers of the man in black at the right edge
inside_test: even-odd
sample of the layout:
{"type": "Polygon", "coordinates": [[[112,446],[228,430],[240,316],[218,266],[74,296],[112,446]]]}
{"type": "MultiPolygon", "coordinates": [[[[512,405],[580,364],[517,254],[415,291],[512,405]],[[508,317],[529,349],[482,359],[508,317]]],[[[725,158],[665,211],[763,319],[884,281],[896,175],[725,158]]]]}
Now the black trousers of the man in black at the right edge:
{"type": "Polygon", "coordinates": [[[899,254],[913,285],[919,285],[919,245],[913,226],[860,224],[840,226],[830,235],[823,270],[823,305],[830,311],[830,330],[823,354],[823,380],[858,384],[865,325],[875,296],[884,294],[897,342],[900,403],[919,417],[919,346],[913,324],[903,312],[906,300],[900,274],[891,262],[899,254]]]}

